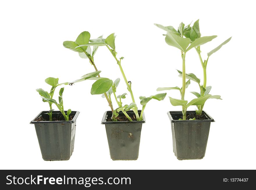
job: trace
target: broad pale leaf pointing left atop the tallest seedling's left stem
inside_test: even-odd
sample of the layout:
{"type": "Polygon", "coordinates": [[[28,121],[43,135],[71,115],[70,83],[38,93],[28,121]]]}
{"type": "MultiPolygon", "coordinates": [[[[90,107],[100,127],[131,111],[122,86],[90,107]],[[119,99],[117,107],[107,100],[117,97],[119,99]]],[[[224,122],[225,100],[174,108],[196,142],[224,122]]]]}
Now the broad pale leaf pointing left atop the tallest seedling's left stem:
{"type": "Polygon", "coordinates": [[[186,48],[189,46],[190,39],[189,38],[181,38],[175,34],[167,33],[165,37],[165,41],[168,45],[173,47],[177,47],[183,52],[186,51],[186,48]]]}

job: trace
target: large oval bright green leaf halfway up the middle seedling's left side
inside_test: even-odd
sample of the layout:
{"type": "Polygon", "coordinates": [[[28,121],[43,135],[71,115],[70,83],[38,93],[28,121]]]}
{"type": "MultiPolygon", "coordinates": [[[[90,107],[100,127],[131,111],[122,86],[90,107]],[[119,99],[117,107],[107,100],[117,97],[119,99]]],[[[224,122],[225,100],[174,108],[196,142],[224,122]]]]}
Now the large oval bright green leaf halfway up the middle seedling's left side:
{"type": "Polygon", "coordinates": [[[91,88],[91,94],[103,94],[109,90],[113,81],[108,78],[102,78],[93,83],[91,88]]]}

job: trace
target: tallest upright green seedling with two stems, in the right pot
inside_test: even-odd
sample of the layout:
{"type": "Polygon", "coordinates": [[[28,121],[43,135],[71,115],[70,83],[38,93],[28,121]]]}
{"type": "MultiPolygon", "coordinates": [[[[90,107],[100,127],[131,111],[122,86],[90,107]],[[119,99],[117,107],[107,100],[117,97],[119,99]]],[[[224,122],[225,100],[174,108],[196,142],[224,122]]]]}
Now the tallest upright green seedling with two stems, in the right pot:
{"type": "Polygon", "coordinates": [[[193,26],[191,27],[191,23],[187,26],[184,25],[184,23],[180,23],[178,30],[175,30],[173,26],[163,26],[160,24],[154,24],[158,28],[161,28],[165,30],[167,33],[163,34],[165,36],[165,41],[168,45],[173,46],[178,48],[181,51],[181,57],[182,57],[182,71],[179,71],[179,77],[182,77],[182,87],[166,87],[166,88],[158,88],[157,91],[161,90],[170,90],[170,89],[176,89],[180,91],[181,94],[181,100],[180,99],[174,99],[170,97],[170,102],[172,105],[177,106],[181,105],[182,106],[182,114],[183,114],[183,120],[186,120],[186,110],[190,105],[196,105],[198,110],[196,110],[197,115],[202,114],[202,109],[205,105],[205,101],[209,98],[215,98],[215,99],[221,99],[221,96],[215,95],[211,96],[209,95],[209,92],[211,90],[211,86],[206,86],[206,67],[208,63],[209,56],[211,54],[215,53],[218,51],[223,45],[225,45],[227,42],[230,41],[231,37],[227,39],[225,42],[223,42],[221,45],[216,47],[215,49],[211,50],[209,53],[207,53],[208,58],[205,61],[202,61],[201,58],[201,50],[200,46],[213,40],[217,36],[202,36],[200,33],[200,28],[199,28],[199,20],[195,21],[193,26]],[[199,55],[200,63],[203,68],[203,76],[204,76],[204,81],[203,85],[200,84],[200,79],[196,77],[193,73],[186,73],[186,64],[185,64],[185,57],[186,53],[191,50],[195,49],[196,52],[199,55]],[[186,79],[189,79],[186,81],[186,79]],[[186,100],[184,100],[185,97],[185,90],[190,84],[190,80],[195,81],[198,83],[199,88],[200,88],[200,93],[198,92],[191,92],[194,94],[197,98],[193,99],[191,102],[187,103],[186,100]]]}

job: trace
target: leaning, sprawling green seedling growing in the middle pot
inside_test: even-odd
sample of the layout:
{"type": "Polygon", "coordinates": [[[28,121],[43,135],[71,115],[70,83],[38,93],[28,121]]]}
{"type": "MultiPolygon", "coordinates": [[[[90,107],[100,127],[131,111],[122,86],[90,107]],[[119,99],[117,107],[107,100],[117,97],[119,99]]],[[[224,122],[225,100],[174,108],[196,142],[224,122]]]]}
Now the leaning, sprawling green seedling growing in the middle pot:
{"type": "MultiPolygon", "coordinates": [[[[93,46],[93,50],[95,50],[95,49],[97,50],[97,48],[99,46],[106,46],[108,48],[108,50],[111,52],[111,54],[113,55],[115,61],[117,62],[118,66],[119,66],[119,69],[121,71],[121,74],[123,76],[123,79],[125,81],[125,84],[127,86],[127,90],[129,91],[129,93],[131,95],[132,103],[130,103],[129,105],[122,106],[122,99],[126,98],[127,94],[123,93],[123,94],[120,94],[120,95],[116,96],[116,88],[118,87],[118,84],[120,82],[120,78],[117,78],[114,82],[112,82],[109,79],[111,81],[111,87],[108,86],[110,84],[110,81],[109,81],[109,83],[102,85],[102,87],[104,86],[104,90],[107,89],[106,92],[102,93],[102,97],[106,98],[108,100],[108,103],[109,103],[110,107],[113,108],[113,105],[112,105],[113,102],[111,101],[111,94],[114,94],[115,101],[118,105],[117,109],[115,109],[115,110],[112,109],[112,113],[113,113],[112,114],[112,120],[117,121],[116,117],[118,116],[119,112],[123,112],[125,114],[125,116],[130,121],[132,121],[132,119],[126,113],[130,109],[132,109],[134,111],[134,114],[136,115],[136,120],[138,120],[138,121],[143,120],[143,118],[142,118],[143,112],[144,112],[145,106],[148,103],[148,101],[150,101],[151,99],[156,99],[156,100],[159,100],[159,101],[163,100],[166,96],[166,93],[156,94],[156,95],[150,96],[150,97],[141,96],[140,100],[141,100],[141,105],[143,107],[142,107],[142,110],[141,110],[141,114],[139,115],[138,114],[138,107],[135,103],[134,95],[133,95],[133,92],[132,92],[132,89],[131,89],[131,81],[127,80],[127,78],[125,76],[125,72],[124,72],[124,70],[122,68],[122,65],[121,65],[121,60],[124,59],[124,57],[120,57],[119,59],[116,57],[117,52],[115,50],[115,35],[114,35],[114,33],[110,34],[106,39],[103,39],[102,36],[100,36],[97,39],[90,39],[90,35],[89,35],[90,33],[86,32],[86,34],[87,34],[86,40],[83,40],[81,42],[79,41],[79,43],[78,43],[78,41],[72,42],[72,43],[70,43],[70,42],[67,43],[67,41],[66,41],[66,42],[63,43],[64,47],[67,47],[67,48],[69,48],[73,51],[79,52],[79,55],[84,53],[83,56],[85,55],[87,58],[89,58],[90,63],[95,66],[94,59],[93,59],[94,54],[92,53],[92,55],[90,55],[90,53],[88,53],[88,49],[90,49],[89,47],[93,46]],[[67,44],[71,44],[71,45],[67,45],[67,44]],[[75,47],[75,44],[77,44],[76,47],[75,47]]],[[[85,38],[83,38],[83,39],[85,39],[85,38]]],[[[95,51],[93,51],[93,52],[95,52],[95,51]]],[[[96,68],[95,68],[95,70],[96,70],[96,68]]],[[[101,79],[99,79],[98,81],[100,81],[100,80],[101,79]]],[[[97,83],[98,81],[96,81],[95,83],[97,83]]],[[[97,94],[98,93],[99,92],[97,91],[97,94]]],[[[91,94],[92,94],[92,92],[91,92],[91,94]]],[[[94,93],[94,94],[96,94],[96,93],[94,93]]]]}

